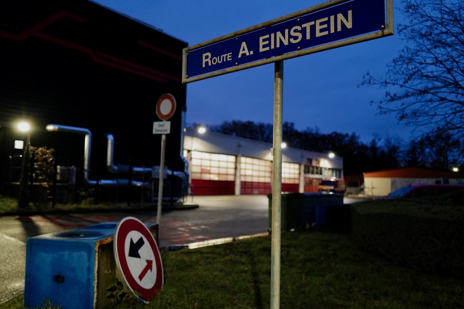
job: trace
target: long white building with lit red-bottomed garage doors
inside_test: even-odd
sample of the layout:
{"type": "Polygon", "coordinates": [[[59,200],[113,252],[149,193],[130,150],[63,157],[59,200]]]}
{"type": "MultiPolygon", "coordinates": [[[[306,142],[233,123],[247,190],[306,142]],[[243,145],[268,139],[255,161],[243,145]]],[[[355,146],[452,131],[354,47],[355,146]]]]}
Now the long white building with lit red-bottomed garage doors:
{"type": "MultiPolygon", "coordinates": [[[[191,194],[271,193],[271,143],[192,128],[184,133],[191,194]]],[[[317,192],[326,178],[343,178],[343,158],[292,147],[282,150],[282,192],[317,192]]]]}

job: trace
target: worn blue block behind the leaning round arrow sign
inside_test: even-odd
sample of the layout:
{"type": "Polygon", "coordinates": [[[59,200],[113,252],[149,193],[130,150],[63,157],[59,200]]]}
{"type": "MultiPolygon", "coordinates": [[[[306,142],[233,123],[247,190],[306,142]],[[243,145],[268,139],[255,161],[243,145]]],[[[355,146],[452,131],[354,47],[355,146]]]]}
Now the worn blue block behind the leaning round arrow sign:
{"type": "MultiPolygon", "coordinates": [[[[110,304],[106,288],[117,269],[113,236],[117,222],[103,222],[26,242],[24,306],[50,301],[62,309],[97,309],[110,304]]],[[[146,226],[158,240],[158,224],[146,226]]]]}

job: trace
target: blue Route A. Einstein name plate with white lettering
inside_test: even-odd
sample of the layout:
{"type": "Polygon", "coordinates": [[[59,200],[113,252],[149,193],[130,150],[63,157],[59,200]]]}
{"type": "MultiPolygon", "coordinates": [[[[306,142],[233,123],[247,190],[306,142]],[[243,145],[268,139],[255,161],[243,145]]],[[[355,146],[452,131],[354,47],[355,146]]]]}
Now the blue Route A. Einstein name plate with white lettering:
{"type": "Polygon", "coordinates": [[[369,32],[379,32],[386,25],[384,1],[344,2],[189,50],[186,76],[192,78],[369,32]]]}

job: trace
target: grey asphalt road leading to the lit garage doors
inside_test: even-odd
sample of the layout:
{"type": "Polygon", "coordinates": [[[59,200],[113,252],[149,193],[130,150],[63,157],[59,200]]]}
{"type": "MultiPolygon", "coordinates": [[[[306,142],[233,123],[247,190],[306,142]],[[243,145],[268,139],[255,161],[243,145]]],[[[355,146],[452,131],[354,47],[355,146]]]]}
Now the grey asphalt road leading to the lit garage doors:
{"type": "MultiPolygon", "coordinates": [[[[345,204],[357,201],[360,200],[344,198],[345,204]]],[[[267,195],[194,196],[187,202],[199,207],[161,213],[158,244],[161,249],[204,246],[268,233],[267,195]]],[[[0,308],[2,303],[24,293],[27,238],[101,222],[117,222],[127,216],[145,223],[157,221],[156,210],[0,217],[0,308]]]]}

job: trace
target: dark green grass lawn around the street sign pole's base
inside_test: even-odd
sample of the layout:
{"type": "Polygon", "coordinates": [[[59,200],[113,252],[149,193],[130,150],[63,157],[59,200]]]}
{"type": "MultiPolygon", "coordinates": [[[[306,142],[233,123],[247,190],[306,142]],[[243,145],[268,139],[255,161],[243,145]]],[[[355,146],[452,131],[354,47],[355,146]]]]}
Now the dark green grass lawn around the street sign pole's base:
{"type": "MultiPolygon", "coordinates": [[[[132,298],[112,308],[270,308],[271,236],[161,257],[166,281],[160,293],[147,305],[132,298]]],[[[342,233],[282,233],[280,288],[282,309],[464,308],[462,278],[394,265],[359,250],[342,233]]],[[[23,304],[20,296],[0,308],[23,304]]]]}

